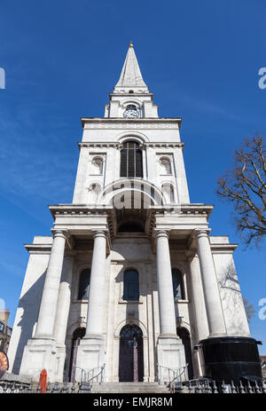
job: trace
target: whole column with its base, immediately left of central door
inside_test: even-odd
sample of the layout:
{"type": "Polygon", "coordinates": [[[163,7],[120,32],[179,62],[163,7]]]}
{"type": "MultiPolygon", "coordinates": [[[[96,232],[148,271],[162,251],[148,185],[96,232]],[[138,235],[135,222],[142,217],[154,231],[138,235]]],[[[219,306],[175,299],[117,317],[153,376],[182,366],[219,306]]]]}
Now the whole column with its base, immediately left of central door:
{"type": "Polygon", "coordinates": [[[106,312],[106,234],[98,231],[90,269],[90,292],[86,335],[78,347],[75,378],[79,381],[80,368],[89,371],[105,363],[104,319],[106,312]]]}

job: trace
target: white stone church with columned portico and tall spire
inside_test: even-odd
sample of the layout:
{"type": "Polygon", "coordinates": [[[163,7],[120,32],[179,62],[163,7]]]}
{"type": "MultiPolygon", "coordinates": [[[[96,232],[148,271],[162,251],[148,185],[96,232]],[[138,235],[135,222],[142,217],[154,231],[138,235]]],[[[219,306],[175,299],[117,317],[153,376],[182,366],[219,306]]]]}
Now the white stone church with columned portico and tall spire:
{"type": "Polygon", "coordinates": [[[197,378],[215,375],[210,343],[253,344],[237,245],[210,235],[213,205],[190,202],[180,128],[130,43],[105,116],[82,118],[73,202],[49,206],[52,235],[25,246],[10,371],[80,381],[105,365],[106,382],[145,383],[187,365],[197,378]]]}

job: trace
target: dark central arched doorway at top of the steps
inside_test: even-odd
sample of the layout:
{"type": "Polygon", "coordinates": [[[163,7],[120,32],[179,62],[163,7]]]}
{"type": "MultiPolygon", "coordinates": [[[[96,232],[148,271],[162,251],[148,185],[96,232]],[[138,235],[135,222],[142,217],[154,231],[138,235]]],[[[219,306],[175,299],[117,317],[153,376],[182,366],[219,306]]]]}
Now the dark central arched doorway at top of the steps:
{"type": "Polygon", "coordinates": [[[127,325],[121,329],[119,349],[119,381],[143,381],[143,334],[136,325],[127,325]]]}

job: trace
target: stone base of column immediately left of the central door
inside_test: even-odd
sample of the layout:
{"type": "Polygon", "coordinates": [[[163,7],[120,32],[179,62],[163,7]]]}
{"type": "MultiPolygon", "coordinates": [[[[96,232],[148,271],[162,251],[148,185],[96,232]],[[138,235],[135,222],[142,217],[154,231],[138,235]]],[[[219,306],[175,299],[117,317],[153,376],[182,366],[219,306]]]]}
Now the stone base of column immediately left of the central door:
{"type": "Polygon", "coordinates": [[[89,334],[84,336],[78,346],[75,381],[82,381],[82,370],[86,372],[86,375],[90,378],[90,370],[95,370],[94,375],[100,372],[100,368],[106,361],[106,342],[104,336],[100,334],[89,334]]]}

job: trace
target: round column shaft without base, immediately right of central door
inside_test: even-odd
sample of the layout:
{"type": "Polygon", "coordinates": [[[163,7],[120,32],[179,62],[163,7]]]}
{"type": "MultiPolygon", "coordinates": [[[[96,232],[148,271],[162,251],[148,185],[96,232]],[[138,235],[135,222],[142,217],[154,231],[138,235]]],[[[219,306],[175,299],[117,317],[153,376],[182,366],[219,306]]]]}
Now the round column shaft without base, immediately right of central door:
{"type": "Polygon", "coordinates": [[[168,233],[159,231],[156,241],[157,281],[160,309],[160,334],[176,336],[176,312],[168,233]]]}

